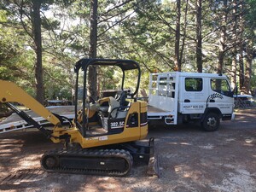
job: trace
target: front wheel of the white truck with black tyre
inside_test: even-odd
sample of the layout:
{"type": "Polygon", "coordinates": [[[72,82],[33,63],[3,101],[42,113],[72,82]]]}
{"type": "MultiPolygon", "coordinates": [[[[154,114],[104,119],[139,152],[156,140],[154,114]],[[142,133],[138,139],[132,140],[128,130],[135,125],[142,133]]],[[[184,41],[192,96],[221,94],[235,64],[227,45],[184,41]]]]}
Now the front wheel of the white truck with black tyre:
{"type": "Polygon", "coordinates": [[[201,122],[205,131],[217,131],[219,127],[219,116],[217,113],[207,113],[206,118],[201,122]]]}

